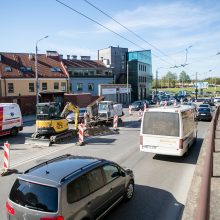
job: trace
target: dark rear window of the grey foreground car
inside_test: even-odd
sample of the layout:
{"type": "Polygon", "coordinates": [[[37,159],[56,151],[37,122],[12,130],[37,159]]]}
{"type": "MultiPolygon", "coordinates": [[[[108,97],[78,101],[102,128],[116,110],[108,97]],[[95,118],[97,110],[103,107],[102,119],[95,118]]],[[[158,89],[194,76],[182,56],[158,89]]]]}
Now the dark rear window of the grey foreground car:
{"type": "Polygon", "coordinates": [[[57,212],[58,189],[17,179],[9,199],[29,209],[57,212]]]}

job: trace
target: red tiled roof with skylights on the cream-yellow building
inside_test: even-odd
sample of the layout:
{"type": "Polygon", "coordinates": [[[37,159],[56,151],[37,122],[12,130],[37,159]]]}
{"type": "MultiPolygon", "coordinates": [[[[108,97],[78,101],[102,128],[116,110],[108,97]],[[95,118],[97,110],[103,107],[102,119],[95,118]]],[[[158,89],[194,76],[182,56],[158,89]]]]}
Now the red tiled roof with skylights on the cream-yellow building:
{"type": "MultiPolygon", "coordinates": [[[[5,53],[0,52],[0,77],[1,78],[35,78],[35,54],[5,53]],[[5,67],[11,67],[11,72],[5,72],[5,67]],[[22,72],[21,67],[31,67],[31,71],[22,72]]],[[[38,54],[39,78],[67,78],[67,71],[62,66],[58,57],[47,57],[38,54]],[[60,72],[52,72],[51,68],[57,67],[60,72]]]]}

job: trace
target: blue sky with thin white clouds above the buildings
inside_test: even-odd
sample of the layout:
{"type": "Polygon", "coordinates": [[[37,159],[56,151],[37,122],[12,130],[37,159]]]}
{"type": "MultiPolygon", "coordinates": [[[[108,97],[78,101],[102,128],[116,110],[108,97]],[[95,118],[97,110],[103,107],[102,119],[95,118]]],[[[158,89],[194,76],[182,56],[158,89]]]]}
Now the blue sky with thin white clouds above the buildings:
{"type": "Polygon", "coordinates": [[[71,9],[56,0],[1,0],[0,51],[34,52],[37,40],[48,35],[38,44],[40,53],[56,50],[97,59],[97,50],[109,46],[151,49],[154,75],[184,70],[192,79],[196,72],[201,79],[220,77],[218,0],[59,1],[71,9]]]}

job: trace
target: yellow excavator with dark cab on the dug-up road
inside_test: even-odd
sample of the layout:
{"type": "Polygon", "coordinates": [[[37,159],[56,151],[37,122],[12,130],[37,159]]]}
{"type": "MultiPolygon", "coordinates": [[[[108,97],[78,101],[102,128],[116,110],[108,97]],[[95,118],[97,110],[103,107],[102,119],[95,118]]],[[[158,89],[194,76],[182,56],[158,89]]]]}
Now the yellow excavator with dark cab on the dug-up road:
{"type": "Polygon", "coordinates": [[[50,146],[52,143],[76,137],[79,117],[78,106],[68,102],[61,112],[59,103],[45,102],[37,104],[36,108],[36,131],[31,138],[26,139],[25,144],[50,146]],[[66,119],[71,111],[75,112],[74,129],[69,129],[66,119]]]}

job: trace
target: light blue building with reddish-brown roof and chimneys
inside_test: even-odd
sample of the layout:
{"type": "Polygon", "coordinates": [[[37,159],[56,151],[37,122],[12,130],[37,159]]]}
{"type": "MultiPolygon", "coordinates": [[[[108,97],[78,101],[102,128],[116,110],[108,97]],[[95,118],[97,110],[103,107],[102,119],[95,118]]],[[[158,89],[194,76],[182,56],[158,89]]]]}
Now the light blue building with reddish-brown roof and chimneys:
{"type": "Polygon", "coordinates": [[[90,60],[88,56],[82,56],[80,60],[76,56],[68,58],[63,59],[63,63],[69,73],[70,93],[98,95],[99,84],[114,83],[112,69],[101,61],[90,60]]]}

